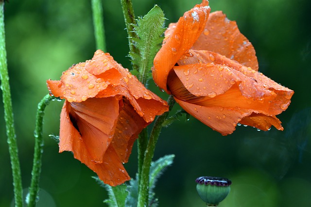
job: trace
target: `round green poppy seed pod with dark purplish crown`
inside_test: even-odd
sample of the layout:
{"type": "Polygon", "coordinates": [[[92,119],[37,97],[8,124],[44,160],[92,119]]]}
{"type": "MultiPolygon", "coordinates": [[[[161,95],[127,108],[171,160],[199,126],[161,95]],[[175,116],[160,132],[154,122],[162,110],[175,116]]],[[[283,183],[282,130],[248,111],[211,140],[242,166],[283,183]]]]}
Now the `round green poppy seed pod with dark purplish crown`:
{"type": "Polygon", "coordinates": [[[230,192],[231,180],[224,177],[196,178],[196,190],[207,206],[218,206],[230,192]]]}

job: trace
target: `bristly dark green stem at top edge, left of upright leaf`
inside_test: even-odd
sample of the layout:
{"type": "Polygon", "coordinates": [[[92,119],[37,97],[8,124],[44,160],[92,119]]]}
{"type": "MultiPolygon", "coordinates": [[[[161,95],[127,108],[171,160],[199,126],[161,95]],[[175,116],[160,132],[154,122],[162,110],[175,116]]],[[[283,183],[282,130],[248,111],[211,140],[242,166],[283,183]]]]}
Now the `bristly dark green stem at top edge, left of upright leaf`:
{"type": "MultiPolygon", "coordinates": [[[[134,25],[136,25],[134,9],[132,5],[132,0],[121,0],[123,16],[126,25],[126,31],[128,36],[128,43],[130,47],[130,52],[139,54],[138,48],[133,44],[132,39],[137,38],[136,33],[134,32],[134,25]]],[[[138,65],[133,64],[133,69],[138,70],[138,65]]]]}

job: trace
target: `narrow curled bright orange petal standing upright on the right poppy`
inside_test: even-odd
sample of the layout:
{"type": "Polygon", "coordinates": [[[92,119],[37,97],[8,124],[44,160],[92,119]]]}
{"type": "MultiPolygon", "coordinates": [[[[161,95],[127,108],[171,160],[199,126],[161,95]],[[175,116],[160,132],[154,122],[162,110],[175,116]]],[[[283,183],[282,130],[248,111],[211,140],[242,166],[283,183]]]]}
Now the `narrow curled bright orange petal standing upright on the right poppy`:
{"type": "Polygon", "coordinates": [[[184,52],[191,48],[204,29],[210,8],[204,0],[180,17],[174,31],[163,42],[154,59],[153,78],[167,93],[167,76],[184,52]]]}

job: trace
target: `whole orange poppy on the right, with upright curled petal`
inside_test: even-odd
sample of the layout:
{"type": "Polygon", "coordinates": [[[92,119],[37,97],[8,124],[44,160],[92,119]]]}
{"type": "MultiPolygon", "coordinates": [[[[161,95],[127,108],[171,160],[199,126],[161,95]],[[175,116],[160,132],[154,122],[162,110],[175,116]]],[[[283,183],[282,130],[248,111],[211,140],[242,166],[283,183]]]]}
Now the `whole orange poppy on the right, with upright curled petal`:
{"type": "Polygon", "coordinates": [[[276,115],[287,109],[294,91],[258,72],[255,49],[236,22],[209,11],[203,0],[169,25],[152,68],[155,83],[223,135],[238,123],[283,130],[276,115]]]}

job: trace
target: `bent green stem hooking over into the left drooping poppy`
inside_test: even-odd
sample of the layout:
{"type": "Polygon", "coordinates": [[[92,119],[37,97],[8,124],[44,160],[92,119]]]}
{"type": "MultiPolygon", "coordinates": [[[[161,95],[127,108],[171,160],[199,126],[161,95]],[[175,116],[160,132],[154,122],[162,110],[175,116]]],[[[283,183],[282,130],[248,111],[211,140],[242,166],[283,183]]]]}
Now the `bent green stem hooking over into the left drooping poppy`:
{"type": "Polygon", "coordinates": [[[42,165],[42,153],[43,153],[43,117],[44,110],[47,105],[50,104],[51,100],[55,100],[56,97],[50,96],[49,94],[44,96],[38,104],[36,121],[35,121],[35,152],[34,152],[34,164],[31,172],[31,184],[29,188],[29,194],[27,195],[28,207],[35,207],[38,191],[39,191],[39,179],[41,174],[42,165]]]}

